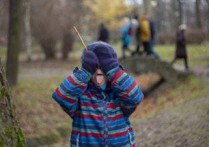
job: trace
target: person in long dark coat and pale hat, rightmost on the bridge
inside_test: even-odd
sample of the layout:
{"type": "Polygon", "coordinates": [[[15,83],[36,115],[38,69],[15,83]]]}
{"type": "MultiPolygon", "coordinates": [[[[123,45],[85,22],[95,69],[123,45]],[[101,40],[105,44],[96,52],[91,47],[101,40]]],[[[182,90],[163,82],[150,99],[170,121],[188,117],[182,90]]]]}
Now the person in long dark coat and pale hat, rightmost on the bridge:
{"type": "Polygon", "coordinates": [[[176,54],[175,58],[171,62],[173,64],[177,59],[183,59],[185,64],[185,69],[188,69],[188,58],[186,51],[186,38],[185,38],[186,25],[182,24],[176,33],[176,54]]]}

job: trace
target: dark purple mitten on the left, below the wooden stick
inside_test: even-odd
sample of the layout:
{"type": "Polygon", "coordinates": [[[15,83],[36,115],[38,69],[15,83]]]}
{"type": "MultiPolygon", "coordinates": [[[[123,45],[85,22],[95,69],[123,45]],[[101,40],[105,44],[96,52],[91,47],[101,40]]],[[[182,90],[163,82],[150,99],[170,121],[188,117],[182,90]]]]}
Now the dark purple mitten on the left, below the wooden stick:
{"type": "Polygon", "coordinates": [[[99,68],[97,56],[92,51],[84,51],[82,55],[82,68],[87,70],[92,75],[99,68]]]}

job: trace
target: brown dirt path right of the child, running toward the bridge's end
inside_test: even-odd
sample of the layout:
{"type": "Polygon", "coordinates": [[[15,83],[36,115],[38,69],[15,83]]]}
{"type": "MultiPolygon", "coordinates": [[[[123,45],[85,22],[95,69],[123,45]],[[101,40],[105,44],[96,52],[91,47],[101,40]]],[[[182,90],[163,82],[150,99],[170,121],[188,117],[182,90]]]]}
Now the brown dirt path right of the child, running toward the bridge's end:
{"type": "MultiPolygon", "coordinates": [[[[209,81],[208,68],[191,69],[209,81]]],[[[209,95],[163,109],[134,124],[140,147],[208,147],[209,95]]]]}

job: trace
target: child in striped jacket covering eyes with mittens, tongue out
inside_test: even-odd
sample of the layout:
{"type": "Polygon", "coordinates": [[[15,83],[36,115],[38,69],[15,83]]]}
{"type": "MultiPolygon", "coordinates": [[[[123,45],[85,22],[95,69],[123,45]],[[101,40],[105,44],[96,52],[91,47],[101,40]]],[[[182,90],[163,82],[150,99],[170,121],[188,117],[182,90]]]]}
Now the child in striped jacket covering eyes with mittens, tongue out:
{"type": "Polygon", "coordinates": [[[143,98],[140,87],[119,65],[114,49],[95,42],[52,97],[72,118],[72,147],[134,147],[129,116],[143,98]]]}

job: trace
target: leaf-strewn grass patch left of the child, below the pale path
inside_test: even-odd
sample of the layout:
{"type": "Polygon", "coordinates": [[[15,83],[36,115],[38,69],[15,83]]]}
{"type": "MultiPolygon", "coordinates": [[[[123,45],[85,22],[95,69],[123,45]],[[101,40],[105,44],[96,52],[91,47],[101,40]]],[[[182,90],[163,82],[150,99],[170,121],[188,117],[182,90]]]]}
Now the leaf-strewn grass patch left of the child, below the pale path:
{"type": "Polygon", "coordinates": [[[17,115],[28,138],[53,133],[60,127],[70,129],[71,120],[51,98],[61,81],[62,77],[27,79],[13,89],[17,115]]]}

